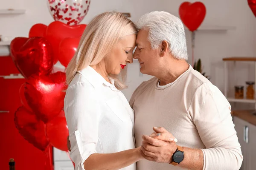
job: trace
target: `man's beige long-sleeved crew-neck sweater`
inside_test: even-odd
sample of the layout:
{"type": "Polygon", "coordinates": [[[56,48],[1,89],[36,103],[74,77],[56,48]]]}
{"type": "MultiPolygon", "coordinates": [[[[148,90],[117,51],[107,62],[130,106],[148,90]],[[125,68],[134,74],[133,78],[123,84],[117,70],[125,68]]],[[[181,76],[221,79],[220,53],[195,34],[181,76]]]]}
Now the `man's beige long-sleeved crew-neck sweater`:
{"type": "MultiPolygon", "coordinates": [[[[177,145],[201,148],[204,170],[239,170],[243,156],[230,104],[221,91],[191,66],[175,82],[157,87],[159,79],[143,82],[130,105],[135,111],[136,146],[152,127],[165,127],[177,145]]],[[[179,170],[170,164],[137,162],[137,170],[179,170]]]]}

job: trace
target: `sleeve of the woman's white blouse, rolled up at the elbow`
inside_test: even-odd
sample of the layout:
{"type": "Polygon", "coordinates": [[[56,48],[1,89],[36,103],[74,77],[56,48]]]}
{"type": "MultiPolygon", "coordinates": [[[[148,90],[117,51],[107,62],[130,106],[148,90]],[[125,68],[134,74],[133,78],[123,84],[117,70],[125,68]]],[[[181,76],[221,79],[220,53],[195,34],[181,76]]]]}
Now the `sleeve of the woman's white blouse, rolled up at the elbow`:
{"type": "Polygon", "coordinates": [[[67,89],[64,111],[70,135],[70,158],[75,170],[84,170],[84,161],[96,153],[100,108],[93,87],[77,83],[67,89]]]}

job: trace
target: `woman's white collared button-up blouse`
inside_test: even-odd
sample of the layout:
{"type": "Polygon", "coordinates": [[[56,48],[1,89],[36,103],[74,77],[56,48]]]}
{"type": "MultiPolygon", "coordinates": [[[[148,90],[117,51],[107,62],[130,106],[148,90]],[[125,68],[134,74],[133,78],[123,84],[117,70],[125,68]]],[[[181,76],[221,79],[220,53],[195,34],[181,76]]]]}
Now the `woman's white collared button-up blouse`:
{"type": "MultiPolygon", "coordinates": [[[[75,170],[93,153],[135,148],[134,112],[121,91],[88,66],[78,71],[64,99],[75,170]]],[[[136,170],[131,164],[123,170],[136,170]]]]}

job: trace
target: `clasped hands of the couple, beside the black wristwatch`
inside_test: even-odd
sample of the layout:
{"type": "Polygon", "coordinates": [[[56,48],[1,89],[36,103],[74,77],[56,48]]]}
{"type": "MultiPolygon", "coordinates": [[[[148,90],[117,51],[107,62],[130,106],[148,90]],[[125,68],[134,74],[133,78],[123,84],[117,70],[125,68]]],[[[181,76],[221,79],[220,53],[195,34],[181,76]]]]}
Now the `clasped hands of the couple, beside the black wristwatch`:
{"type": "Polygon", "coordinates": [[[172,154],[177,150],[177,139],[163,127],[153,128],[156,133],[151,137],[143,135],[141,150],[145,159],[160,163],[170,163],[172,154]],[[160,134],[160,135],[159,135],[160,134]]]}

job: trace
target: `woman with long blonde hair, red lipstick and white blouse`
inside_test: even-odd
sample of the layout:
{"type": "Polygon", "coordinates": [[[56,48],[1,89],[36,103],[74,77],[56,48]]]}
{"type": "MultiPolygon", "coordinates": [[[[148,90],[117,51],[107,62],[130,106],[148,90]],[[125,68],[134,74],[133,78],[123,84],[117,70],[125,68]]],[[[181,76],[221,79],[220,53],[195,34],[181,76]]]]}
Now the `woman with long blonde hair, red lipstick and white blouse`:
{"type": "Polygon", "coordinates": [[[134,113],[119,89],[132,63],[137,30],[118,12],[96,16],[67,67],[64,111],[75,170],[136,170],[134,113]],[[125,168],[124,168],[125,167],[125,168]]]}

